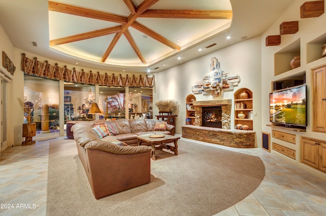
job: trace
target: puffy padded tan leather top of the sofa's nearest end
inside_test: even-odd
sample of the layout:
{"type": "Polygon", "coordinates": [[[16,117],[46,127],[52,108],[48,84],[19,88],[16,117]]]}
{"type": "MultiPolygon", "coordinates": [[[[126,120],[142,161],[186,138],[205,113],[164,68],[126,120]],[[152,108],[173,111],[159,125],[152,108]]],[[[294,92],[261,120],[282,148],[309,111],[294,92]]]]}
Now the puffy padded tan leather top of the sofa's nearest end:
{"type": "Polygon", "coordinates": [[[85,149],[95,149],[114,153],[116,155],[131,155],[135,153],[143,153],[151,150],[150,146],[139,145],[139,146],[129,146],[129,145],[116,145],[111,142],[94,140],[88,142],[85,146],[85,149]]]}

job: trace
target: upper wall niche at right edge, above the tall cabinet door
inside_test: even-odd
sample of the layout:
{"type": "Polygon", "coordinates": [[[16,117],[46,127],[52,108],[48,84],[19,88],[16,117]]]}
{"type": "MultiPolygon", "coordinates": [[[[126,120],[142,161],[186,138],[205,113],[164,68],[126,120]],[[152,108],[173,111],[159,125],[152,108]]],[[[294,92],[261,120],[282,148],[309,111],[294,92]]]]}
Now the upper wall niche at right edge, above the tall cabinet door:
{"type": "Polygon", "coordinates": [[[326,33],[307,43],[307,63],[311,63],[321,58],[321,47],[324,44],[326,44],[326,33]]]}

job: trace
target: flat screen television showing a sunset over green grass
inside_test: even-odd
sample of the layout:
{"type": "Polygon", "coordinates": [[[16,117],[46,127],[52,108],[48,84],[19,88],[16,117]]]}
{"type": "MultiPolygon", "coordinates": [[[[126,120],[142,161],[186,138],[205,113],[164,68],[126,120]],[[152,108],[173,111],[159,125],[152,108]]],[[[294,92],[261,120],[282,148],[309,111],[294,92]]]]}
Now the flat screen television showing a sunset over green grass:
{"type": "Polygon", "coordinates": [[[297,85],[269,94],[270,121],[286,127],[307,126],[307,85],[297,85]]]}

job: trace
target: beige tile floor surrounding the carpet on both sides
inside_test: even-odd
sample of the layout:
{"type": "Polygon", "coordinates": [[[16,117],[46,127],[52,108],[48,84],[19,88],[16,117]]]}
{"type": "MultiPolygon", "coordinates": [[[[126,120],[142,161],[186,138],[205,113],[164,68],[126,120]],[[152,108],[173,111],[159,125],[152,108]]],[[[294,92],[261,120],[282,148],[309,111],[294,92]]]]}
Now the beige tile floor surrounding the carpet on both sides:
{"type": "MultiPolygon", "coordinates": [[[[266,176],[259,188],[215,215],[326,215],[325,180],[260,148],[236,149],[197,143],[258,156],[266,167],[266,176]]],[[[35,145],[9,147],[2,152],[0,215],[45,215],[48,145],[49,140],[37,141],[35,145]]]]}

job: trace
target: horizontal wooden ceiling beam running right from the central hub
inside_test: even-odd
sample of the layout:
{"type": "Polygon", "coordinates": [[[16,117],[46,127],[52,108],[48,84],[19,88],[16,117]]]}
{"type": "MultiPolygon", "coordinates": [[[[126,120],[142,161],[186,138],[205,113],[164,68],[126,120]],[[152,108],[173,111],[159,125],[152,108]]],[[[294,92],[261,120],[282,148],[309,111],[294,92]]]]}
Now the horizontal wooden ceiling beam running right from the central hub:
{"type": "Polygon", "coordinates": [[[232,11],[214,10],[146,10],[139,17],[183,19],[232,19],[232,11]]]}

